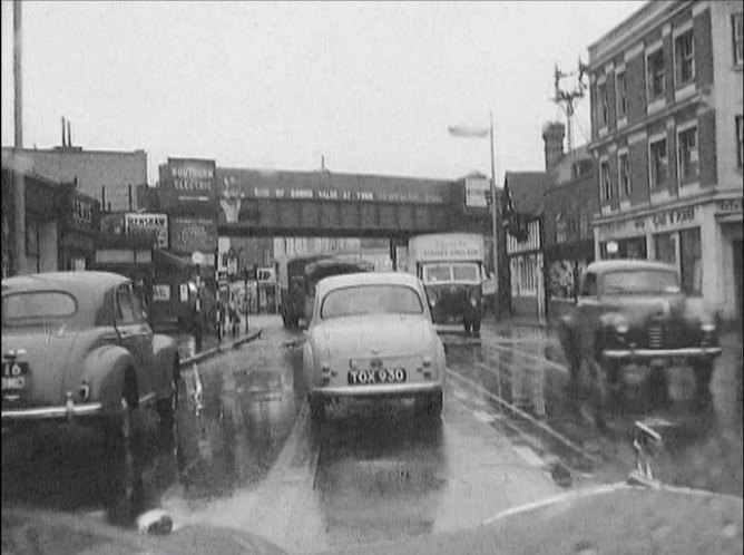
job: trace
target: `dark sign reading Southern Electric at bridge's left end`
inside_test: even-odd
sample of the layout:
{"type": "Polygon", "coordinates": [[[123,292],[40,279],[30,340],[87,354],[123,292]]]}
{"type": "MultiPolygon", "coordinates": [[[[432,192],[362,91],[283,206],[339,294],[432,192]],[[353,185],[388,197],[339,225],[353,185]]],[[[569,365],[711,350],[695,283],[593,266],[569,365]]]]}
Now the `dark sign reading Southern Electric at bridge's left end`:
{"type": "Polygon", "coordinates": [[[215,160],[168,158],[159,169],[160,202],[168,213],[216,211],[215,160]]]}

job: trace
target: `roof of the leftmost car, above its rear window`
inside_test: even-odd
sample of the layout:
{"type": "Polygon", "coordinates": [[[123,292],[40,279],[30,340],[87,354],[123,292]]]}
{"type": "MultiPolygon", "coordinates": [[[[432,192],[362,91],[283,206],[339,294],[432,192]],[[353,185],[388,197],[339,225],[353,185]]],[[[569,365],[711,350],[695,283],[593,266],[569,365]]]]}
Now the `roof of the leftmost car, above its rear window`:
{"type": "Polygon", "coordinates": [[[128,281],[124,275],[111,272],[43,272],[6,278],[2,280],[2,292],[58,290],[72,293],[79,299],[92,300],[128,281]]]}

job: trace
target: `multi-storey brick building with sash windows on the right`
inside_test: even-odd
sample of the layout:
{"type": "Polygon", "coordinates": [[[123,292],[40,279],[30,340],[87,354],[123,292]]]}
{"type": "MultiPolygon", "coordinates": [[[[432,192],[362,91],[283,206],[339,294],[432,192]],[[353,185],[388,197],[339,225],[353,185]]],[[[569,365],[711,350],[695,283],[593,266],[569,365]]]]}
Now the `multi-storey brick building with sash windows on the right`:
{"type": "Polygon", "coordinates": [[[654,1],[589,47],[595,256],[676,264],[742,310],[741,1],[654,1]]]}

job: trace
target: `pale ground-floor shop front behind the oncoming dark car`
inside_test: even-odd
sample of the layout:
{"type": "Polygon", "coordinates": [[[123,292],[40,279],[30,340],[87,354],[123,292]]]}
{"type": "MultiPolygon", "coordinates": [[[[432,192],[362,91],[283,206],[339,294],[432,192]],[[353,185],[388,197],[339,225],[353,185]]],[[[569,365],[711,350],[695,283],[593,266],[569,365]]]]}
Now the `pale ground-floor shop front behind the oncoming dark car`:
{"type": "Polygon", "coordinates": [[[595,221],[595,255],[659,260],[724,320],[742,310],[742,197],[705,198],[595,221]],[[609,243],[617,244],[610,255],[609,243]]]}

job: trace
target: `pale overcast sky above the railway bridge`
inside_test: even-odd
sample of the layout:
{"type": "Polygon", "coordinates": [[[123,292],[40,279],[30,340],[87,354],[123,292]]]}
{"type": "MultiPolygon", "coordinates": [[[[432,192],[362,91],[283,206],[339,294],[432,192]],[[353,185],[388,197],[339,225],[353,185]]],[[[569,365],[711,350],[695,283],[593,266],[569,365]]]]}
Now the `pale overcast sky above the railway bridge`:
{"type": "MultiPolygon", "coordinates": [[[[643,2],[22,2],[23,139],[143,148],[218,166],[457,178],[542,169],[562,118],[554,64],[643,2]]],[[[572,85],[567,80],[566,86],[572,85]]],[[[588,96],[576,144],[589,135],[588,96]]],[[[12,3],[2,0],[2,145],[13,144],[12,3]]]]}

